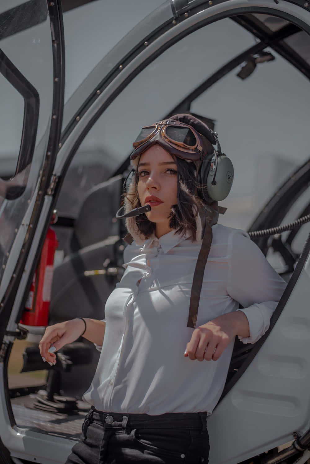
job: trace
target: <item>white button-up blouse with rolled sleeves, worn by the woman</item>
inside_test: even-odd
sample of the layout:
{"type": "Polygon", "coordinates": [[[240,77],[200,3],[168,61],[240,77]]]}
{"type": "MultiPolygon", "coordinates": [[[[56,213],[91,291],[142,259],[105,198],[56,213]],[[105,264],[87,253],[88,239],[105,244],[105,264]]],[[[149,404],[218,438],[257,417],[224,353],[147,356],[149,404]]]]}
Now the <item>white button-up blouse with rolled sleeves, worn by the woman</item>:
{"type": "MultiPolygon", "coordinates": [[[[269,328],[286,283],[248,234],[220,224],[200,295],[196,328],[239,303],[255,343],[269,328]]],[[[125,248],[125,272],[105,306],[106,328],[96,373],[83,399],[105,412],[211,414],[223,391],[234,340],[218,361],[184,357],[194,329],[187,327],[201,241],[169,232],[125,248]]]]}

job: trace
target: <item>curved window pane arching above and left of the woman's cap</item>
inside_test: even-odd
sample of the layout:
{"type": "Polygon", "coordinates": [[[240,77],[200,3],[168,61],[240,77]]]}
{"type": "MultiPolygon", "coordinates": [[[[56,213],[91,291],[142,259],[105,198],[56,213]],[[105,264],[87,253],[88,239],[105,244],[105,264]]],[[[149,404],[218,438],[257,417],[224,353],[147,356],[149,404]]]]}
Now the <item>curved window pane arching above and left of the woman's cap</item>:
{"type": "MultiPolygon", "coordinates": [[[[252,45],[251,34],[224,19],[190,34],[149,64],[84,138],[66,174],[59,213],[76,218],[87,191],[108,179],[127,158],[143,126],[161,120],[211,73],[252,45]],[[227,36],[233,38],[229,47],[227,36]],[[206,47],[214,40],[216,52],[206,47]]],[[[200,114],[212,117],[207,108],[200,114]]]]}

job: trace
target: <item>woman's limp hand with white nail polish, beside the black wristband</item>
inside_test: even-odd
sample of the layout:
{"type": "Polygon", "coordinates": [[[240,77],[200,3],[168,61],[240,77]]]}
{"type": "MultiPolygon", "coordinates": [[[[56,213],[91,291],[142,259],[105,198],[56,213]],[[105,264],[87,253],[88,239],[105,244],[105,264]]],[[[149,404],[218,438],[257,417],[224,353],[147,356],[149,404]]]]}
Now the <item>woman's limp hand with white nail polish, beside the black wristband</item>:
{"type": "Polygon", "coordinates": [[[84,328],[82,319],[71,319],[71,321],[59,322],[46,327],[45,333],[39,342],[39,350],[43,361],[47,361],[51,366],[56,364],[56,354],[54,352],[77,340],[83,333],[84,328]],[[49,352],[51,348],[52,353],[49,352]]]}

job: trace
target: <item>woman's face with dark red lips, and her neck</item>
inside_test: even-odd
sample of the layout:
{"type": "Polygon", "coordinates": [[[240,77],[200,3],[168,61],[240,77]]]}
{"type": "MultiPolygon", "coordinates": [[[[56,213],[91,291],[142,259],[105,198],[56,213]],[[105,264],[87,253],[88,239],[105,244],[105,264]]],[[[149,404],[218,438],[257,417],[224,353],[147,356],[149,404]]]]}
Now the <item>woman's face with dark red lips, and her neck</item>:
{"type": "Polygon", "coordinates": [[[157,238],[172,230],[168,217],[171,206],[178,202],[177,169],[173,157],[157,144],[145,150],[139,160],[139,200],[142,206],[149,204],[152,208],[146,215],[155,222],[157,238]]]}

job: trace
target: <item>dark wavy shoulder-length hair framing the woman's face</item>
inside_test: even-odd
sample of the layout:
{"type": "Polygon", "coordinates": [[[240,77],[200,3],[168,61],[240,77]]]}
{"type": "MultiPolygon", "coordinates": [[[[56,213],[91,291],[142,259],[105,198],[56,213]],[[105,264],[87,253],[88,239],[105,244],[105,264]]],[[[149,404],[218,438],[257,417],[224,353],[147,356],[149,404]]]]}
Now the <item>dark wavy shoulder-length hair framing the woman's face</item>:
{"type": "MultiPolygon", "coordinates": [[[[174,229],[181,236],[185,237],[187,232],[190,232],[192,242],[196,240],[196,220],[195,217],[203,206],[202,200],[196,196],[199,184],[196,181],[196,167],[194,163],[187,162],[178,156],[171,155],[178,167],[178,192],[177,205],[171,206],[169,215],[169,227],[174,229]]],[[[138,195],[138,171],[135,171],[133,176],[133,192],[125,193],[125,197],[130,201],[133,208],[142,206],[138,195]]],[[[155,223],[149,221],[146,214],[136,216],[136,225],[139,231],[149,238],[155,232],[155,223]]]]}

